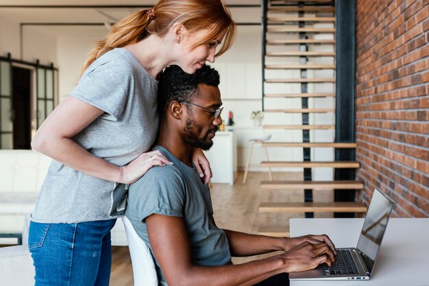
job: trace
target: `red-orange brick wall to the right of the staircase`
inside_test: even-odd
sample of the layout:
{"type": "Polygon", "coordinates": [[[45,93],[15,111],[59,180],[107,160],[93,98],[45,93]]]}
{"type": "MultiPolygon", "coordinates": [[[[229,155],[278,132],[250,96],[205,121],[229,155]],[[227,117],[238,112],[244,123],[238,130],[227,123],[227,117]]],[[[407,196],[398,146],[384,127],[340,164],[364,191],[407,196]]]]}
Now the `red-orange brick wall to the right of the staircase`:
{"type": "Polygon", "coordinates": [[[429,0],[357,0],[356,22],[358,199],[429,217],[429,0]]]}

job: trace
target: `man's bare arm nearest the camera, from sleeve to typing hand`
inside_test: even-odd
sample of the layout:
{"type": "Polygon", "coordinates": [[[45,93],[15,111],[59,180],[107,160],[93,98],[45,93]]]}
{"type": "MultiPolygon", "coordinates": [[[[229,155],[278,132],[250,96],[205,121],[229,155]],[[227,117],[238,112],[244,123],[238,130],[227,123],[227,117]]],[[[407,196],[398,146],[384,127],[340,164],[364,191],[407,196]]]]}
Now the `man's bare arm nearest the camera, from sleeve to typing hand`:
{"type": "Polygon", "coordinates": [[[193,265],[191,246],[181,217],[150,215],[147,233],[154,255],[170,286],[254,285],[282,272],[308,270],[320,263],[331,263],[326,243],[303,243],[288,253],[240,265],[193,265]]]}

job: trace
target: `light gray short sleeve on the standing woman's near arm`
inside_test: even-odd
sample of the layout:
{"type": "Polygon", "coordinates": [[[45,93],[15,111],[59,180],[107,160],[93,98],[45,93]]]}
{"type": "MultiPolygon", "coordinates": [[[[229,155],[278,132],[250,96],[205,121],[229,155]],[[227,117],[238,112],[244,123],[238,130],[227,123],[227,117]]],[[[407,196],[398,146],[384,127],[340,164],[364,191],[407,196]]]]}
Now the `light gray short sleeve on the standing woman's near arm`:
{"type": "Polygon", "coordinates": [[[94,62],[69,93],[104,112],[105,119],[117,121],[127,102],[131,71],[120,62],[94,62]]]}

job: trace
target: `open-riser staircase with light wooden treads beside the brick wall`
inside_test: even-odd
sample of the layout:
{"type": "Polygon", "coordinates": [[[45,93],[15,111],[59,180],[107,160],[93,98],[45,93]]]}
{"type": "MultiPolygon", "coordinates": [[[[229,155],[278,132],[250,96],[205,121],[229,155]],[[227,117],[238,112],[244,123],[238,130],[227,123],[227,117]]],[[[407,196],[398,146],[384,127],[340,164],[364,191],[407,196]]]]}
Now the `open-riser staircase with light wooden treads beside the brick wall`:
{"type": "MultiPolygon", "coordinates": [[[[335,112],[332,106],[335,106],[336,81],[334,11],[334,1],[330,0],[262,1],[262,109],[267,117],[271,115],[279,119],[282,115],[289,115],[296,119],[298,115],[301,122],[294,124],[284,121],[282,124],[267,124],[263,128],[302,132],[302,141],[265,142],[262,146],[279,148],[279,153],[288,148],[301,148],[304,160],[262,161],[260,166],[302,169],[304,180],[262,181],[260,190],[276,192],[302,189],[304,202],[261,202],[259,213],[304,213],[305,217],[314,217],[315,213],[367,211],[365,204],[359,202],[313,202],[315,191],[363,189],[363,183],[355,180],[312,180],[313,171],[317,168],[335,171],[359,167],[359,163],[352,160],[312,159],[315,148],[330,149],[330,152],[338,149],[354,152],[357,146],[354,142],[335,142],[332,117],[335,112]],[[328,115],[332,119],[330,122],[321,120],[319,124],[317,115],[328,115]],[[320,141],[316,132],[330,132],[328,134],[331,136],[321,136],[324,140],[320,141]],[[327,137],[330,138],[326,140],[327,137]]],[[[260,226],[258,233],[289,235],[284,226],[260,226]]]]}

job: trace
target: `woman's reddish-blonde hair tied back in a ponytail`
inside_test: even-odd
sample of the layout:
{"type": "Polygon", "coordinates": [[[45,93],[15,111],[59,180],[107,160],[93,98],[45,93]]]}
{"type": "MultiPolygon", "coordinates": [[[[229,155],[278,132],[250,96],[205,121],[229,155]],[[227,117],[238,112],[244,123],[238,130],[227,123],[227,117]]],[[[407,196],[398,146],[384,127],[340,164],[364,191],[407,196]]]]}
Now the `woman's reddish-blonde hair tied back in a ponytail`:
{"type": "Polygon", "coordinates": [[[137,43],[151,34],[163,36],[175,23],[182,23],[190,34],[208,29],[206,36],[198,40],[193,48],[225,32],[223,45],[216,56],[228,51],[234,40],[236,24],[223,0],[159,0],[154,6],[154,13],[155,18],[149,19],[147,9],[140,10],[115,23],[103,40],[95,42],[79,77],[90,64],[111,49],[137,43]]]}

